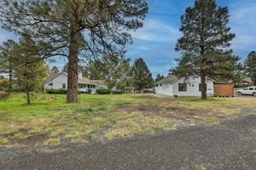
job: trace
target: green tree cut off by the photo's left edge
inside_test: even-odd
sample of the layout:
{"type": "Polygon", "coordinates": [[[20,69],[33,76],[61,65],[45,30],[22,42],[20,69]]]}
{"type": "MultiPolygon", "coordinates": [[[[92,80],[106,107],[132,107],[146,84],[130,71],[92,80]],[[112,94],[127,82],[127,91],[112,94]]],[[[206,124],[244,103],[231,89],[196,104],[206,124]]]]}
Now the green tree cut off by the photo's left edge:
{"type": "Polygon", "coordinates": [[[9,93],[13,91],[13,78],[17,55],[15,54],[17,43],[13,40],[7,40],[0,46],[0,73],[6,73],[9,76],[9,93]]]}

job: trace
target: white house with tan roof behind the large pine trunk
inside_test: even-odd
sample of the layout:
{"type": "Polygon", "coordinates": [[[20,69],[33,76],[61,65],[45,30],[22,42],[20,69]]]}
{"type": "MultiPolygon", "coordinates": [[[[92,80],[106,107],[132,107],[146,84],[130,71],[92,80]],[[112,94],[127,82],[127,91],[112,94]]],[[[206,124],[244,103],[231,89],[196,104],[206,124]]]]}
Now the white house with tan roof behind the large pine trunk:
{"type": "MultiPolygon", "coordinates": [[[[96,94],[96,89],[99,88],[108,88],[105,81],[90,80],[79,73],[79,91],[88,93],[90,89],[91,94],[96,94]]],[[[51,74],[44,82],[44,90],[47,89],[67,89],[67,73],[51,74]]]]}

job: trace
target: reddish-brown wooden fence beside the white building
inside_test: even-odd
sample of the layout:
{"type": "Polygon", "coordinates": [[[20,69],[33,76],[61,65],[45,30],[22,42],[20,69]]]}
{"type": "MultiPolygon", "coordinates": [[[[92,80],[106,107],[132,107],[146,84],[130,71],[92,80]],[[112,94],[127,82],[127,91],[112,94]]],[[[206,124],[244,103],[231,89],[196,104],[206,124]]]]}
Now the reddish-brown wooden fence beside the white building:
{"type": "Polygon", "coordinates": [[[234,97],[234,84],[233,83],[214,84],[214,96],[234,97]]]}

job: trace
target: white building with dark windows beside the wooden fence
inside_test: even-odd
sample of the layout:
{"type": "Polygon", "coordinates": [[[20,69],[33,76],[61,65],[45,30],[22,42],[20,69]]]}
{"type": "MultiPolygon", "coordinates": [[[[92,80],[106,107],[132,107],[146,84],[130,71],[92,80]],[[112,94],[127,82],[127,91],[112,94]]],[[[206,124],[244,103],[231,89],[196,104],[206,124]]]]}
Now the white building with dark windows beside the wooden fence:
{"type": "MultiPolygon", "coordinates": [[[[207,94],[213,94],[213,81],[207,79],[207,94]]],[[[168,76],[155,83],[155,94],[168,96],[201,96],[201,77],[168,76]]]]}

